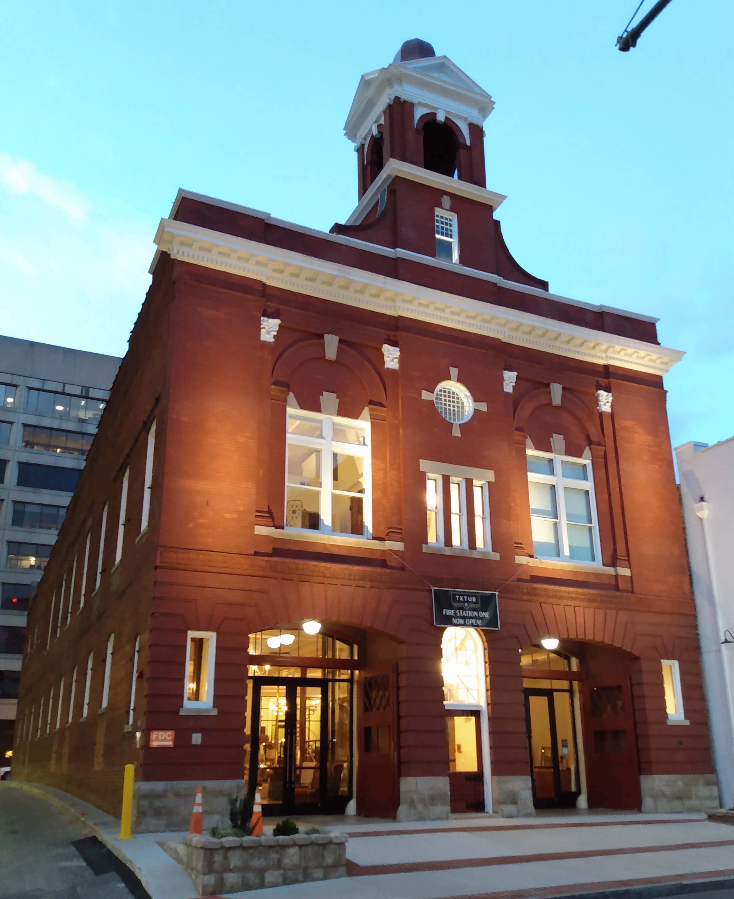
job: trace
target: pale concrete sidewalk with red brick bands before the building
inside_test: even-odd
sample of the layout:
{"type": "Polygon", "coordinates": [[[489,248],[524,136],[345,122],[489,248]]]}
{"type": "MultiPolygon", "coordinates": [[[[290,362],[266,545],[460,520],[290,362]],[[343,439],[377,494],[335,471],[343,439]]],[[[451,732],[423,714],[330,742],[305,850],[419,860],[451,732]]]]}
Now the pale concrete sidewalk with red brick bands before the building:
{"type": "MultiPolygon", "coordinates": [[[[119,821],[111,815],[60,790],[13,786],[83,820],[135,871],[152,899],[196,897],[186,872],[158,845],[181,841],[182,833],[117,841],[119,821]]],[[[701,813],[481,814],[420,823],[314,817],[299,823],[302,829],[349,833],[349,878],[228,894],[230,899],[542,899],[610,890],[642,899],[726,879],[734,895],[734,827],[701,813]]]]}

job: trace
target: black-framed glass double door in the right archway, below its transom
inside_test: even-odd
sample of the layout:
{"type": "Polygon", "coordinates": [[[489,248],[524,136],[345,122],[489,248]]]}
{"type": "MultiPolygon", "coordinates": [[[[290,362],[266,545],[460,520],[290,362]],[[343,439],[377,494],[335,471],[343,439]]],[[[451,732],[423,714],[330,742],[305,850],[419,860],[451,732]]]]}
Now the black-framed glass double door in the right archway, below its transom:
{"type": "Polygon", "coordinates": [[[525,715],[535,808],[573,808],[580,793],[573,694],[526,688],[525,715]]]}

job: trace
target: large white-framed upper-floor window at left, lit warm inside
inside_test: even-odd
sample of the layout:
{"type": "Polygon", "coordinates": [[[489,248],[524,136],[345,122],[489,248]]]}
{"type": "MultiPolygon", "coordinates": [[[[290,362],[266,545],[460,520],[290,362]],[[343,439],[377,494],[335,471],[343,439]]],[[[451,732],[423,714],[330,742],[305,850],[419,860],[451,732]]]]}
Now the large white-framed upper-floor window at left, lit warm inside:
{"type": "Polygon", "coordinates": [[[286,528],[372,536],[369,422],[288,411],[286,528]]]}

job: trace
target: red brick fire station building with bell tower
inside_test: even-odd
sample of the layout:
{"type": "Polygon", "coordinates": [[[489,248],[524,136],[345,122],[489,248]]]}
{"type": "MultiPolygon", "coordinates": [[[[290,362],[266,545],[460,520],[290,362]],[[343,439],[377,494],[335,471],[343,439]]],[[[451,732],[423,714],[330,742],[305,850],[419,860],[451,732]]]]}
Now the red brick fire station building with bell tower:
{"type": "Polygon", "coordinates": [[[509,254],[492,105],[408,41],[349,111],[346,224],[179,193],[31,609],[14,777],[115,811],[134,761],[147,830],[243,779],[266,814],[717,804],[680,353],[509,254]]]}

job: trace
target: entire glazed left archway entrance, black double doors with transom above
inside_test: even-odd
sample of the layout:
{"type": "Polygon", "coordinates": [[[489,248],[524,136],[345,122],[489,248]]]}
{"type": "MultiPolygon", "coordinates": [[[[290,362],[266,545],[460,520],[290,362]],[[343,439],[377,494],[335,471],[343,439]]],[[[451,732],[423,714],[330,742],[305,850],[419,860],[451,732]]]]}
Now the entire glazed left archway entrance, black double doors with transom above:
{"type": "Polygon", "coordinates": [[[353,796],[358,647],[303,628],[250,635],[244,772],[263,814],[342,814],[353,796]]]}

